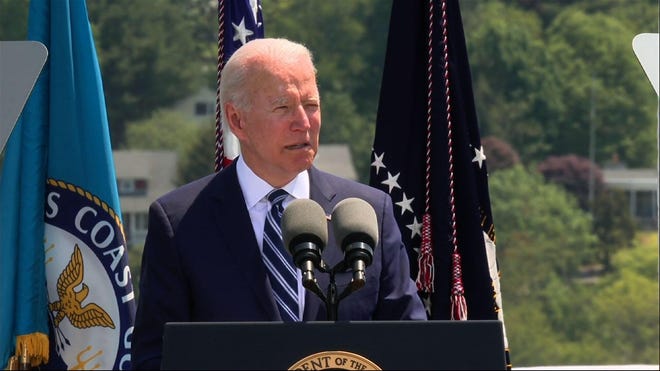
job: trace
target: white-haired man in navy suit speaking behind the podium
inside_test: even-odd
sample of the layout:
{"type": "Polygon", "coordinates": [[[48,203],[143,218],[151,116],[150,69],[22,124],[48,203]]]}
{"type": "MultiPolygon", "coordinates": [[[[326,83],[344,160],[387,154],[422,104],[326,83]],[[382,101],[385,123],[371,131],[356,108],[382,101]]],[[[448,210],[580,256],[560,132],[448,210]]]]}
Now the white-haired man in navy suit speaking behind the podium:
{"type": "MultiPolygon", "coordinates": [[[[425,320],[390,196],[312,165],[321,102],[310,51],[285,39],[248,42],[222,71],[220,107],[241,155],[151,205],[133,366],[160,367],[166,322],[425,320]],[[318,203],[326,219],[329,233],[311,252],[328,266],[349,261],[337,289],[356,286],[336,313],[305,287],[313,278],[328,284],[313,272],[314,254],[294,262],[284,249],[280,218],[298,199],[318,203]],[[346,199],[349,211],[335,214],[346,199]],[[374,215],[373,224],[355,231],[362,227],[351,216],[361,215],[374,215]]],[[[315,228],[323,234],[323,224],[315,228]]]]}

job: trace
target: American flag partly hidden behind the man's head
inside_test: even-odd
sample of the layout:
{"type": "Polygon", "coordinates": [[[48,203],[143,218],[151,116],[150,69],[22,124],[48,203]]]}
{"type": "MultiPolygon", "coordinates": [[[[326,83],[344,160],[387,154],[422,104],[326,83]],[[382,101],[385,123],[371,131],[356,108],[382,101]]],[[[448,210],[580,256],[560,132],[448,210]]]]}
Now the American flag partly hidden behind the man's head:
{"type": "MultiPolygon", "coordinates": [[[[236,49],[263,37],[261,0],[218,0],[218,76],[236,49]]],[[[221,125],[220,108],[216,105],[216,171],[229,166],[240,152],[238,139],[221,125]]]]}

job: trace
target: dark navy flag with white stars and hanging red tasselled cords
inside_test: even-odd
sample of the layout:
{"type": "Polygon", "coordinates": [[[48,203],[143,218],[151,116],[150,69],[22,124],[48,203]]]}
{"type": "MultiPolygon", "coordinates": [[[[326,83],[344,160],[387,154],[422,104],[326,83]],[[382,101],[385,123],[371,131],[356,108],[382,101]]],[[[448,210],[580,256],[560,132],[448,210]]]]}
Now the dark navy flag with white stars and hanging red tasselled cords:
{"type": "Polygon", "coordinates": [[[392,196],[429,318],[503,321],[458,0],[393,2],[370,184],[392,196]]]}

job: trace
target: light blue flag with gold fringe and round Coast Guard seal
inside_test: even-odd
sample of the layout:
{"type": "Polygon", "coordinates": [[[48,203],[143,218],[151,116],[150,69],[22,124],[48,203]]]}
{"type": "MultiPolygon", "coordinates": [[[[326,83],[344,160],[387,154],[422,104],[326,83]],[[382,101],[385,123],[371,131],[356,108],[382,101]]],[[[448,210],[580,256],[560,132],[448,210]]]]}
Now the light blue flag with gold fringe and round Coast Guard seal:
{"type": "Polygon", "coordinates": [[[47,332],[50,353],[33,365],[128,369],[133,285],[84,0],[32,0],[28,38],[49,56],[0,183],[0,248],[16,257],[0,261],[3,361],[10,336],[47,332]]]}

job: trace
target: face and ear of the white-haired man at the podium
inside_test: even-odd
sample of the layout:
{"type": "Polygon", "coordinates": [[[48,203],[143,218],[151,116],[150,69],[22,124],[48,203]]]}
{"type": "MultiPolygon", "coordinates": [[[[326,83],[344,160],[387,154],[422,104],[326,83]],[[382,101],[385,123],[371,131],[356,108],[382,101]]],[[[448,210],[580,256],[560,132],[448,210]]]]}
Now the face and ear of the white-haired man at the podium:
{"type": "Polygon", "coordinates": [[[256,71],[249,79],[250,105],[228,104],[232,131],[250,168],[274,187],[309,169],[318,151],[321,107],[309,61],[256,71]]]}

